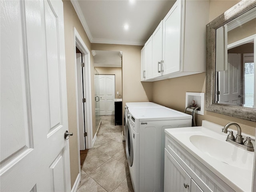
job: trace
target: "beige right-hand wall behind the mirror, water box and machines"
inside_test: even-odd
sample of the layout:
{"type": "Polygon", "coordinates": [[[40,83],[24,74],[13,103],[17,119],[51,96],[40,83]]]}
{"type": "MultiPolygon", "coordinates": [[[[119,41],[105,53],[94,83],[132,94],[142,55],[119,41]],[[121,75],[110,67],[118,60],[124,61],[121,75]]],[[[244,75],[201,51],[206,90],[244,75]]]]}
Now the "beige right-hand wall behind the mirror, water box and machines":
{"type": "MultiPolygon", "coordinates": [[[[238,2],[237,0],[210,0],[209,22],[238,2]]],[[[186,92],[205,92],[205,73],[153,82],[152,101],[183,112],[186,92]]],[[[241,125],[242,132],[255,135],[256,122],[209,111],[204,111],[204,116],[198,115],[197,124],[201,125],[202,120],[222,126],[228,122],[237,122],[241,125]]]]}

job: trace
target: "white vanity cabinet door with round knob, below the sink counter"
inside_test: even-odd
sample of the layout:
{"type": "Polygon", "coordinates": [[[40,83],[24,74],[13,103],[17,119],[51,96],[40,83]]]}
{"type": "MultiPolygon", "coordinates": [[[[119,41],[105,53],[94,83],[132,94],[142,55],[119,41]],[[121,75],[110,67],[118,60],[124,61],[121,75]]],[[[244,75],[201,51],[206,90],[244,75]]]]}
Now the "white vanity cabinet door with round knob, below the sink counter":
{"type": "Polygon", "coordinates": [[[190,176],[174,157],[166,149],[164,150],[164,191],[190,192],[190,176]]]}

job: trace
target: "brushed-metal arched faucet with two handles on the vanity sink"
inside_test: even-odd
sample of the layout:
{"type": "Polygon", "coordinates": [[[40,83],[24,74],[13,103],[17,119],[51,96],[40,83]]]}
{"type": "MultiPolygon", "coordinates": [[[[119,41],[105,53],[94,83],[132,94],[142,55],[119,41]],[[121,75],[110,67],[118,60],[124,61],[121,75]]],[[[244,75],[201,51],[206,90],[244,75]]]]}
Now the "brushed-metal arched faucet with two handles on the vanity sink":
{"type": "Polygon", "coordinates": [[[242,137],[241,127],[237,123],[230,122],[230,123],[226,124],[224,126],[224,128],[222,129],[222,132],[224,132],[224,133],[229,132],[227,139],[226,139],[227,142],[230,142],[230,143],[234,144],[235,146],[238,146],[244,150],[254,151],[251,140],[253,140],[253,141],[255,141],[255,140],[250,137],[246,137],[246,141],[243,142],[244,138],[242,137]],[[236,138],[234,137],[233,132],[228,130],[228,128],[232,125],[236,126],[236,128],[237,128],[236,138]]]}

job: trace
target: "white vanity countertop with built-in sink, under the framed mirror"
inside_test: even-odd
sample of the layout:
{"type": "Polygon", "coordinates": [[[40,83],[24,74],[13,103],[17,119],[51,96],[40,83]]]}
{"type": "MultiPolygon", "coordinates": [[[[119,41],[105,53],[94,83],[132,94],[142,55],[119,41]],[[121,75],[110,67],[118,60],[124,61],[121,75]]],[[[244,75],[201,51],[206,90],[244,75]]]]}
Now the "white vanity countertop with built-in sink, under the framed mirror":
{"type": "MultiPolygon", "coordinates": [[[[223,133],[222,128],[203,120],[202,126],[170,128],[164,132],[234,191],[251,191],[254,152],[226,142],[228,134],[223,133]]],[[[236,135],[237,130],[232,131],[236,135]]],[[[243,129],[242,136],[254,138],[244,134],[243,129]]]]}

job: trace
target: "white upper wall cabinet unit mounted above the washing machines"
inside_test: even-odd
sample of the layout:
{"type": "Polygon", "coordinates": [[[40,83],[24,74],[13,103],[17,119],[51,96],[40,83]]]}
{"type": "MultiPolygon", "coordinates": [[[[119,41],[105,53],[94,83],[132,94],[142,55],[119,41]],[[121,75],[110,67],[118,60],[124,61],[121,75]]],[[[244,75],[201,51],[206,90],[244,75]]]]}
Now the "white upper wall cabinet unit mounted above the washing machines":
{"type": "MultiPolygon", "coordinates": [[[[152,37],[152,64],[144,81],[205,72],[209,0],[177,0],[152,37]],[[162,39],[162,41],[161,41],[162,39]]],[[[146,45],[146,44],[145,44],[146,45]]]]}

